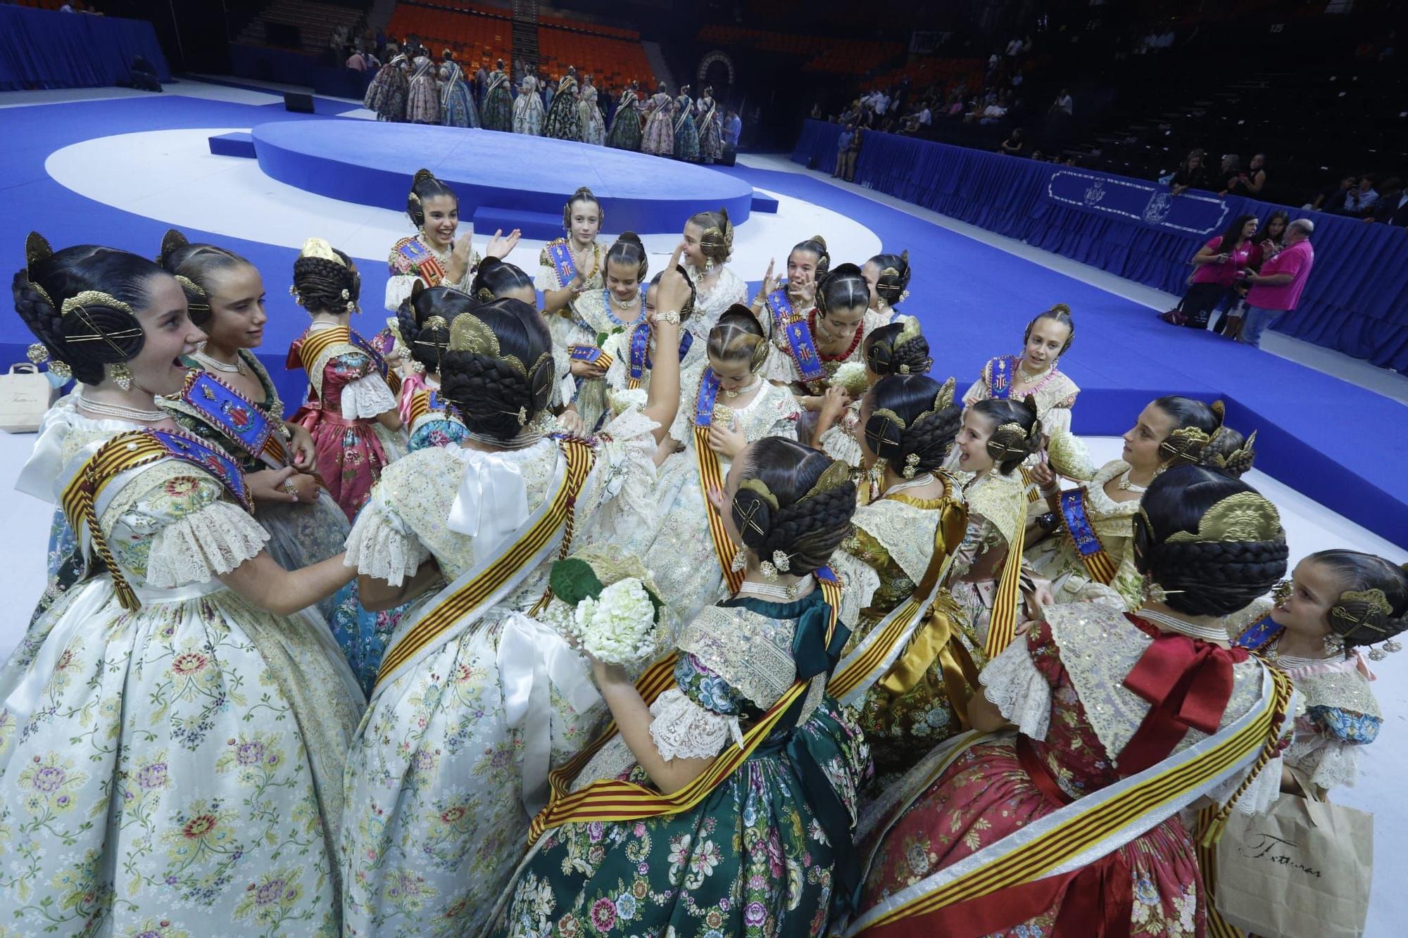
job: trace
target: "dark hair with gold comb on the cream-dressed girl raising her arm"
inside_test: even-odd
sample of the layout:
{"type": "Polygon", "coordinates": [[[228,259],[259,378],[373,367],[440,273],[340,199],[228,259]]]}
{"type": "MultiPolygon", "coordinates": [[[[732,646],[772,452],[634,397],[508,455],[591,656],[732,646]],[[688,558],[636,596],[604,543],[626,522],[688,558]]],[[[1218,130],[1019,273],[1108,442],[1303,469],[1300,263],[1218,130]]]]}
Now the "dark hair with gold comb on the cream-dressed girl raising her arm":
{"type": "Polygon", "coordinates": [[[552,334],[538,310],[522,300],[505,297],[484,304],[469,300],[460,314],[474,315],[487,327],[497,354],[456,349],[451,342],[441,356],[441,394],[459,408],[473,432],[513,439],[548,406],[552,334]]]}

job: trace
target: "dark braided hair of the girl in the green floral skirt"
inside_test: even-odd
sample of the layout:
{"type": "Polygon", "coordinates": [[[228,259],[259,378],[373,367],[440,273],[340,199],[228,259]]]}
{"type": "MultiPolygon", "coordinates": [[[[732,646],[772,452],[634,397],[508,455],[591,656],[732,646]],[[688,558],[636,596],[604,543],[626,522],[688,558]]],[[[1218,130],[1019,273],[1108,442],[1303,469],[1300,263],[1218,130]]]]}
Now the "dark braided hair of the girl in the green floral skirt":
{"type": "Polygon", "coordinates": [[[732,503],[743,546],[762,561],[784,555],[786,572],[798,576],[825,566],[856,513],[849,468],[783,437],[765,437],[745,452],[732,503]]]}

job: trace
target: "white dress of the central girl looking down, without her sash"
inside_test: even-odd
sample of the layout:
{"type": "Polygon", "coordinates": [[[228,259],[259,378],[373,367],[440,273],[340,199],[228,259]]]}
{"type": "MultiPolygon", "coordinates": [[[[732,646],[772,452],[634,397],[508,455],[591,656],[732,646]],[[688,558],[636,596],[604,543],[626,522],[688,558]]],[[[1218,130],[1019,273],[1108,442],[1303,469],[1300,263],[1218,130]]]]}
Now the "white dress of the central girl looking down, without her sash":
{"type": "MultiPolygon", "coordinates": [[[[670,425],[670,439],[680,449],[660,465],[646,511],[650,523],[629,532],[624,544],[655,573],[660,599],[680,623],[689,623],[717,600],[727,587],[705,514],[694,442],[694,401],[704,368],[680,376],[680,410],[670,425]]],[[[762,382],[748,404],[736,406],[722,392],[714,408],[721,420],[727,407],[748,442],[763,437],[797,438],[797,404],[780,387],[762,382]]],[[[728,476],[731,461],[719,456],[719,472],[728,476]]]]}

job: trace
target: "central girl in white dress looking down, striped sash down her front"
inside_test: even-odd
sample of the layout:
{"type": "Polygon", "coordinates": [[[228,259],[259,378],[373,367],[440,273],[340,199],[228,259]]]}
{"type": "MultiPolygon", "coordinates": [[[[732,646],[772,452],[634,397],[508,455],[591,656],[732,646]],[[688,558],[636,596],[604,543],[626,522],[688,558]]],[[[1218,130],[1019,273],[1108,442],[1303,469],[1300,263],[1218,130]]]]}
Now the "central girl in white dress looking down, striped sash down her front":
{"type": "MultiPolygon", "coordinates": [[[[646,558],[660,599],[680,623],[727,594],[741,577],[708,501],[738,454],[763,437],[797,438],[791,394],[762,377],[769,346],[743,307],[719,318],[707,341],[707,366],[683,379],[683,406],[670,425],[655,483],[652,523],[625,549],[646,558]]],[[[667,356],[666,356],[667,358],[667,356]]]]}

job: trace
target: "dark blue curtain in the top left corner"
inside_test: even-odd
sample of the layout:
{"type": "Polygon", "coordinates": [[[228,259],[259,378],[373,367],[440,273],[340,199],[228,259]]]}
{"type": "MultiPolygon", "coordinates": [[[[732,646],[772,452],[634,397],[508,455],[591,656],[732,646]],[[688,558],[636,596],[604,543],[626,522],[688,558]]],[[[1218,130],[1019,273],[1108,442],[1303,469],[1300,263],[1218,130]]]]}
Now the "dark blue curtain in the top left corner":
{"type": "Polygon", "coordinates": [[[145,20],[0,6],[0,90],[125,83],[137,55],[170,80],[156,30],[145,20]]]}

